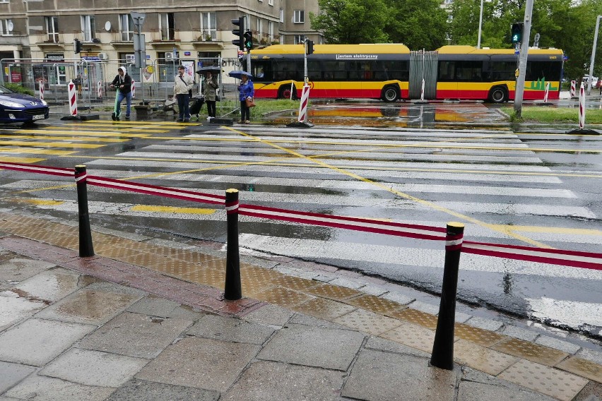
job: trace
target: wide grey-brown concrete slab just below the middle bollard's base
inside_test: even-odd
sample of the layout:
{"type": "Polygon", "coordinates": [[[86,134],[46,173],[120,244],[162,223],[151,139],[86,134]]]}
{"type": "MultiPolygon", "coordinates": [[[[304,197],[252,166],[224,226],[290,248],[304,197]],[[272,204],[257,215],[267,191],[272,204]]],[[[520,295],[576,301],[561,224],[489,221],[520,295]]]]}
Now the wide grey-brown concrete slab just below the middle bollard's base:
{"type": "Polygon", "coordinates": [[[249,323],[237,318],[206,315],[187,330],[188,335],[213,338],[213,340],[263,344],[275,329],[266,325],[249,323]]]}

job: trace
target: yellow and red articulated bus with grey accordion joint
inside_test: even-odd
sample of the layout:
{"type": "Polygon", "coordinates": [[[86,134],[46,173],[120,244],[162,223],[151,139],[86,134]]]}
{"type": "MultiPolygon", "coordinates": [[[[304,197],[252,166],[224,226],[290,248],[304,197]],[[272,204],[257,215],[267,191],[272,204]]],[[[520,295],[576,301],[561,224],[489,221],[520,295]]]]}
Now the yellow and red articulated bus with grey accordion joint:
{"type": "MultiPolygon", "coordinates": [[[[251,52],[256,97],[300,96],[303,44],[276,44],[251,52]]],[[[525,100],[557,99],[562,50],[529,49],[525,100]]],[[[514,99],[518,55],[513,49],[444,46],[413,52],[403,44],[316,44],[307,56],[310,97],[397,100],[514,99]],[[424,85],[423,85],[424,80],[424,85]]]]}

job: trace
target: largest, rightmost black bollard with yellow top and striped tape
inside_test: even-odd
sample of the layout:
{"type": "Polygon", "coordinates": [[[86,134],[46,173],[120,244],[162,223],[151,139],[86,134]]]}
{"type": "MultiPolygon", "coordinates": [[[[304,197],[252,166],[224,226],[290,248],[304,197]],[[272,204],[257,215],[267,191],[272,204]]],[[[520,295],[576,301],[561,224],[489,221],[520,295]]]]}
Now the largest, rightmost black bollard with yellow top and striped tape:
{"type": "Polygon", "coordinates": [[[432,345],[430,364],[437,368],[454,369],[454,325],[456,323],[456,292],[458,289],[458,270],[464,225],[459,222],[447,223],[445,244],[445,265],[443,268],[443,286],[435,342],[432,345]]]}

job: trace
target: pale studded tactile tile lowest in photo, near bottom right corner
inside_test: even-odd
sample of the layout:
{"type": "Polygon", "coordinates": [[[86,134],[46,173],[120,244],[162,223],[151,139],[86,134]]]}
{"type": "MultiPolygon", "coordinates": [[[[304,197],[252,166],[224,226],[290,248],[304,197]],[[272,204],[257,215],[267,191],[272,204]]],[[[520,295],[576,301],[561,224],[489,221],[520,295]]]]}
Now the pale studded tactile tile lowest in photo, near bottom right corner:
{"type": "Polygon", "coordinates": [[[587,379],[521,359],[500,373],[499,378],[551,395],[562,401],[572,400],[587,384],[587,379]]]}

